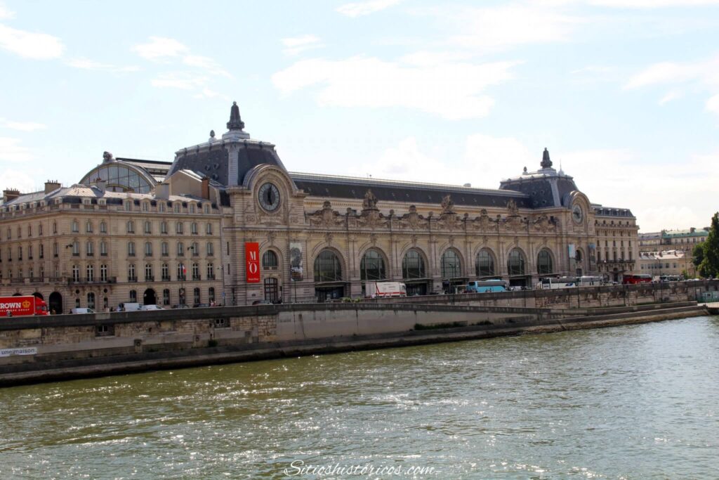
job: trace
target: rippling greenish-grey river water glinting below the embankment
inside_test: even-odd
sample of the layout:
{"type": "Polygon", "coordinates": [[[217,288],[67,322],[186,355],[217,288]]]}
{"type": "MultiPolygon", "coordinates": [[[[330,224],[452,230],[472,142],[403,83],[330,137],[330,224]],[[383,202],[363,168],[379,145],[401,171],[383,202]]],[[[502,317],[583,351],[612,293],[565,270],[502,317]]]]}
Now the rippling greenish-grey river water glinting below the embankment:
{"type": "Polygon", "coordinates": [[[0,476],[715,479],[718,409],[697,317],[2,389],[0,476]]]}

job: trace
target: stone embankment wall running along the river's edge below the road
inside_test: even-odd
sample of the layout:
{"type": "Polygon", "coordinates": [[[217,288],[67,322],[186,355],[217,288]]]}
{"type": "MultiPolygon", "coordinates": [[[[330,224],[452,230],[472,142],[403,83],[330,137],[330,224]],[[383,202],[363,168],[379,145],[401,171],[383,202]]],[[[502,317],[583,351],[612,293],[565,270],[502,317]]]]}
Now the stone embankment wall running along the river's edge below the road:
{"type": "Polygon", "coordinates": [[[586,327],[592,322],[602,326],[602,322],[615,325],[687,317],[705,313],[692,299],[697,292],[715,291],[719,282],[692,284],[694,288],[664,285],[661,294],[652,294],[651,285],[580,289],[582,308],[577,308],[577,291],[516,291],[358,304],[4,318],[0,320],[0,384],[273,358],[300,350],[338,351],[553,331],[572,323],[586,327]],[[652,302],[655,298],[665,302],[652,302]],[[416,325],[437,329],[416,331],[416,325]],[[454,333],[441,327],[452,327],[454,333]],[[462,333],[462,329],[468,330],[462,333]]]}

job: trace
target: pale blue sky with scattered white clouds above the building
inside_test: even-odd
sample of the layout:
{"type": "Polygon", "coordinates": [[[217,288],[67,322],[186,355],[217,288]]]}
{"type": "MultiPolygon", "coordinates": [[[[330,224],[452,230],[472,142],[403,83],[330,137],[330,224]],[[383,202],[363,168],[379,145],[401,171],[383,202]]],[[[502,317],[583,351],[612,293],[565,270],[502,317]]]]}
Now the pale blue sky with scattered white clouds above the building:
{"type": "Polygon", "coordinates": [[[544,148],[641,232],[719,210],[719,0],[0,0],[0,187],[226,131],[290,171],[487,189],[544,148]]]}

